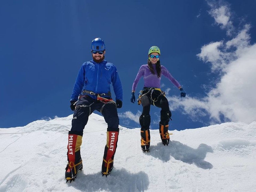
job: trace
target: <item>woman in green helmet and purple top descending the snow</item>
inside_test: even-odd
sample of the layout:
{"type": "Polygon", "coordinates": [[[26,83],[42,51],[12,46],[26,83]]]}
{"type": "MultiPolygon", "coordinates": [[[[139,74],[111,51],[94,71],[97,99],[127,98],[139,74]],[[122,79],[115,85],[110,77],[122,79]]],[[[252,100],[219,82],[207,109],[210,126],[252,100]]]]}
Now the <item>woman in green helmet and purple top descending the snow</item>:
{"type": "Polygon", "coordinates": [[[161,76],[168,78],[175,87],[181,91],[181,97],[185,97],[186,93],[182,89],[181,85],[169,71],[160,65],[160,49],[157,46],[153,46],[148,51],[148,64],[142,65],[139,69],[139,72],[133,82],[131,102],[135,102],[135,90],[140,78],[144,78],[144,87],[140,91],[138,104],[142,104],[143,110],[142,114],[139,117],[139,123],[141,125],[141,148],[144,152],[149,152],[150,146],[150,105],[155,105],[158,108],[161,108],[160,112],[160,122],[159,122],[159,132],[162,139],[163,145],[169,144],[169,119],[171,118],[171,111],[169,109],[168,100],[165,97],[165,93],[160,89],[160,80],[161,76]]]}

